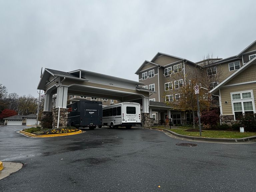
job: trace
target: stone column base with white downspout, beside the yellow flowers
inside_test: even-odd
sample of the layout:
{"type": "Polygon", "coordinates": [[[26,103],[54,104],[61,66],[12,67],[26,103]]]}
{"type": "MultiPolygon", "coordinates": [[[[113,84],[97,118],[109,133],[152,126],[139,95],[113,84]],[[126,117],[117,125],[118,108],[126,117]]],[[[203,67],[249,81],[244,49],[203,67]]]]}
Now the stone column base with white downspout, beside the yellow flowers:
{"type": "MultiPolygon", "coordinates": [[[[59,108],[53,109],[52,129],[57,129],[59,108]]],[[[60,108],[59,128],[65,128],[68,124],[68,108],[60,108]]]]}

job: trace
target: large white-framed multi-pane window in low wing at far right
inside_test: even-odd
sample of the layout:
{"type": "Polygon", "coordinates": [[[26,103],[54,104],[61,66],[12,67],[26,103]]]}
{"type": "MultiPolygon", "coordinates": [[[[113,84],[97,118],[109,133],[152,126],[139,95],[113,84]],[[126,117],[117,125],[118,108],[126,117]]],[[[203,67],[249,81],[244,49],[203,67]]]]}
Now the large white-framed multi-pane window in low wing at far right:
{"type": "Polygon", "coordinates": [[[252,95],[252,90],[243,92],[233,92],[231,93],[231,100],[235,120],[237,120],[239,116],[243,114],[254,113],[255,104],[252,95]]]}

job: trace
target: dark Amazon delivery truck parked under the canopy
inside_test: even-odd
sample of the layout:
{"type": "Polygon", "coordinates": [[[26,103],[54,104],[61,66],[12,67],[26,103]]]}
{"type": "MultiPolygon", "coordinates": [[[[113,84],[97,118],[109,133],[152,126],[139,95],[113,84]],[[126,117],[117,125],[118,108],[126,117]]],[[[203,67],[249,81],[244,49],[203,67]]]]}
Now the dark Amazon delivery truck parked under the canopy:
{"type": "Polygon", "coordinates": [[[102,102],[101,101],[77,101],[67,105],[68,126],[102,127],[102,102]]]}

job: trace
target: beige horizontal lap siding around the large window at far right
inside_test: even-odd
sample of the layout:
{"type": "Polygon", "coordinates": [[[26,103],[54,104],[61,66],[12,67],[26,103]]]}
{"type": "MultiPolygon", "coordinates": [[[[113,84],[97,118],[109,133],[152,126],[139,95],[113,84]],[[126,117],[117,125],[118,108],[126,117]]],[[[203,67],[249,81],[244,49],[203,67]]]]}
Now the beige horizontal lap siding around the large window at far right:
{"type": "Polygon", "coordinates": [[[239,85],[233,87],[225,87],[220,90],[221,92],[221,105],[222,105],[222,113],[223,115],[232,114],[232,103],[230,93],[253,90],[254,101],[256,100],[256,83],[248,84],[248,85],[239,85]],[[225,103],[227,101],[227,103],[225,103]]]}

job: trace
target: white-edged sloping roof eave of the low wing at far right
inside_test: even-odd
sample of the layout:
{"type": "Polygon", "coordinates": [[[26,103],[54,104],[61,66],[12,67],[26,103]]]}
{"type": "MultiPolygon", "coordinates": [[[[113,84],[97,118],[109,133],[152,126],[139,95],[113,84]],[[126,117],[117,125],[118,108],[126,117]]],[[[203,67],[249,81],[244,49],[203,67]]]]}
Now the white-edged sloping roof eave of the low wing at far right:
{"type": "Polygon", "coordinates": [[[250,67],[251,65],[256,64],[256,57],[254,57],[253,59],[251,59],[250,61],[248,61],[246,64],[244,64],[242,67],[240,67],[239,69],[237,69],[232,75],[230,75],[229,77],[227,77],[224,81],[222,81],[219,85],[217,85],[216,87],[214,87],[210,93],[216,93],[219,89],[221,89],[225,84],[227,84],[229,81],[231,81],[233,78],[235,78],[237,75],[239,75],[240,73],[242,73],[244,70],[246,70],[248,67],[250,67]]]}

